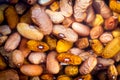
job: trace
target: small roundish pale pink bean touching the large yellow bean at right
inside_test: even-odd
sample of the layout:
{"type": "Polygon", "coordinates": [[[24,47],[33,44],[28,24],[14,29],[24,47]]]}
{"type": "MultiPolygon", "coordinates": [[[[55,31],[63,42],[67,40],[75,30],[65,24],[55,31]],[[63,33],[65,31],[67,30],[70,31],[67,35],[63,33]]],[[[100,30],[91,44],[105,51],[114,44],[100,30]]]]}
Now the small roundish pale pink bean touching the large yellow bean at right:
{"type": "Polygon", "coordinates": [[[110,41],[112,41],[113,40],[113,36],[112,36],[112,34],[111,33],[109,33],[109,32],[104,32],[101,36],[100,36],[100,41],[102,42],[102,43],[108,43],[108,42],[110,42],[110,41]]]}

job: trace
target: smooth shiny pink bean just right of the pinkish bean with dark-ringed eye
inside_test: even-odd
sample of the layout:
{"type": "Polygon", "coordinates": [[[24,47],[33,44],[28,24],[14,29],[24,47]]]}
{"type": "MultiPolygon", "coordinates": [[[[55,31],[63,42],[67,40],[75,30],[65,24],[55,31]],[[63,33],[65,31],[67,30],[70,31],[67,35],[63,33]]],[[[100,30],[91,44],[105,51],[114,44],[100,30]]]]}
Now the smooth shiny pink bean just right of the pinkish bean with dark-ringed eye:
{"type": "Polygon", "coordinates": [[[88,36],[90,34],[90,28],[87,25],[74,22],[72,24],[72,28],[76,31],[80,36],[88,36]]]}

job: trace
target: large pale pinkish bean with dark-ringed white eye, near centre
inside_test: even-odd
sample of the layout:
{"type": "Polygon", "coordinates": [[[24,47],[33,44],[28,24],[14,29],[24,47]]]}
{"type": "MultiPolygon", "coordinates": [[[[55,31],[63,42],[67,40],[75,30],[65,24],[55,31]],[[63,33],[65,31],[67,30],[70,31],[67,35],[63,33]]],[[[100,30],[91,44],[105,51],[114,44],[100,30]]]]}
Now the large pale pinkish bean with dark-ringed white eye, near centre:
{"type": "Polygon", "coordinates": [[[63,25],[54,25],[53,34],[70,42],[75,42],[78,39],[78,35],[71,28],[66,28],[63,25]]]}

